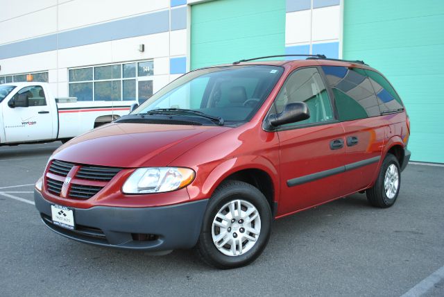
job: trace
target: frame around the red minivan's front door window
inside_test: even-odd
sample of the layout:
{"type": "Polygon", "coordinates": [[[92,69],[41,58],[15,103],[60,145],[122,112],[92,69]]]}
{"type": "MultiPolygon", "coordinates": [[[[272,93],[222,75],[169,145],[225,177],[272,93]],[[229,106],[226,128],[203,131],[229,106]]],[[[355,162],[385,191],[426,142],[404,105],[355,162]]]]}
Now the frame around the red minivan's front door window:
{"type": "Polygon", "coordinates": [[[279,90],[278,94],[276,94],[275,98],[273,99],[273,103],[271,103],[271,107],[268,109],[268,112],[266,113],[266,116],[264,117],[264,121],[262,123],[262,128],[266,132],[279,132],[279,131],[296,130],[296,129],[301,129],[301,128],[309,128],[309,127],[330,125],[330,124],[336,124],[336,123],[339,123],[339,122],[340,121],[339,121],[339,116],[338,116],[338,112],[337,112],[337,109],[336,109],[336,103],[334,102],[333,92],[330,89],[330,85],[328,85],[328,83],[327,83],[327,78],[325,78],[324,71],[322,71],[321,66],[311,65],[311,66],[303,66],[303,67],[298,67],[296,69],[293,69],[293,71],[291,71],[287,75],[287,78],[285,78],[284,83],[282,83],[282,86],[280,87],[280,90],[279,90]],[[289,78],[294,73],[296,73],[296,71],[299,71],[301,69],[306,69],[306,68],[315,68],[315,69],[317,69],[318,74],[321,76],[322,83],[324,84],[325,90],[327,90],[327,94],[328,94],[328,97],[329,97],[329,100],[330,100],[330,104],[331,104],[331,107],[332,107],[333,119],[331,119],[330,121],[319,121],[317,123],[298,124],[298,122],[296,122],[296,123],[293,123],[293,124],[291,124],[289,126],[272,127],[270,124],[268,124],[268,118],[269,118],[269,116],[271,114],[275,114],[278,111],[278,109],[276,108],[276,105],[275,105],[275,101],[278,98],[278,96],[280,95],[280,92],[282,92],[282,88],[287,83],[289,78]]]}

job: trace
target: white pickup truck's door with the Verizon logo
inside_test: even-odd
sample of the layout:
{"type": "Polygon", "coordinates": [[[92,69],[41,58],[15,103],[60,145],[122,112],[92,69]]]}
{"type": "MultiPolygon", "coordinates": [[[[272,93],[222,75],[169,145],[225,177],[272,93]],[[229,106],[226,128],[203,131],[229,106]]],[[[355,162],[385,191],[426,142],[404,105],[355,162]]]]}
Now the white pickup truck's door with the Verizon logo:
{"type": "Polygon", "coordinates": [[[33,142],[53,137],[53,121],[43,88],[33,85],[22,88],[19,94],[28,96],[29,106],[10,108],[3,104],[3,123],[6,142],[33,142]]]}

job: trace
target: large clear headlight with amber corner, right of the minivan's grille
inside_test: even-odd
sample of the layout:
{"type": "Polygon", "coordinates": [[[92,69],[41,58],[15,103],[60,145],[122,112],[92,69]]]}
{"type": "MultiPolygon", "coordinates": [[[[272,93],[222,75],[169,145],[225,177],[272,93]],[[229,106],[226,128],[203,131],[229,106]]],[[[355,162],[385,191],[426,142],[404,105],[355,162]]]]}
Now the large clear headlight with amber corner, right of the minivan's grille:
{"type": "Polygon", "coordinates": [[[148,167],[139,168],[123,184],[125,194],[170,192],[187,187],[195,173],[189,168],[148,167]]]}

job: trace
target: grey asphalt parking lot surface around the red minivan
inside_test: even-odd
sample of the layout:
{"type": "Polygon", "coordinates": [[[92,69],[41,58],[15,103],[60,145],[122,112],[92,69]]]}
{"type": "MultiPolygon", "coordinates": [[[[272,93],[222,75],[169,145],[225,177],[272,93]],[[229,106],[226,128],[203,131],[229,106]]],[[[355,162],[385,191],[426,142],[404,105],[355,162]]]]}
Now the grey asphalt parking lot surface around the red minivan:
{"type": "Polygon", "coordinates": [[[46,228],[33,183],[58,146],[0,147],[0,296],[401,296],[444,265],[444,167],[409,164],[385,210],[355,194],[275,221],[256,262],[219,271],[191,250],[151,256],[46,228]]]}

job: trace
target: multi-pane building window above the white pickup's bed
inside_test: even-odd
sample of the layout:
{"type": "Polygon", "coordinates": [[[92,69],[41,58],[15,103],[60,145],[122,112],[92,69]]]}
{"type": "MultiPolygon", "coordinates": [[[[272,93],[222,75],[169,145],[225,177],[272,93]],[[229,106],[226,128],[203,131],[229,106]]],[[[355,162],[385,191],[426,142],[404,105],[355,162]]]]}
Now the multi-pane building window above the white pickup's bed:
{"type": "Polygon", "coordinates": [[[152,60],[69,69],[69,96],[78,101],[135,101],[139,78],[153,74],[152,60]]]}

